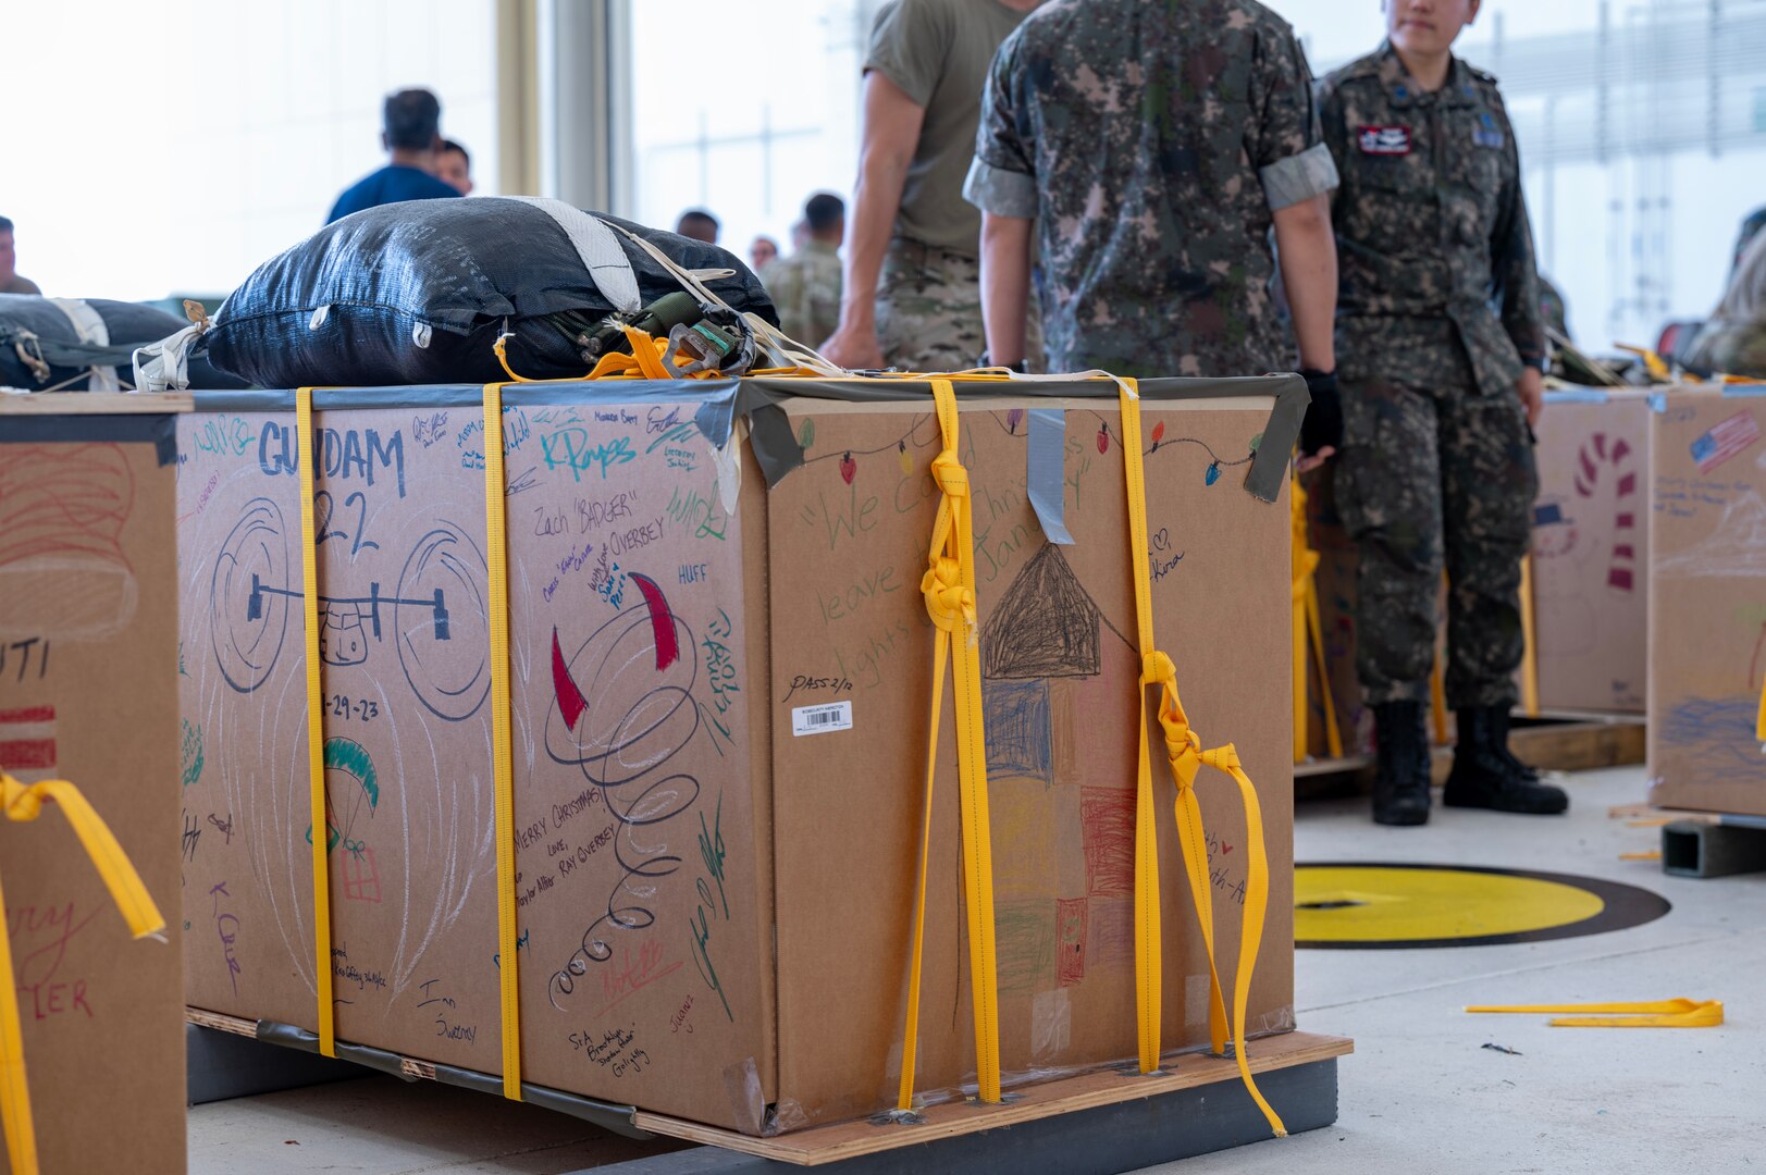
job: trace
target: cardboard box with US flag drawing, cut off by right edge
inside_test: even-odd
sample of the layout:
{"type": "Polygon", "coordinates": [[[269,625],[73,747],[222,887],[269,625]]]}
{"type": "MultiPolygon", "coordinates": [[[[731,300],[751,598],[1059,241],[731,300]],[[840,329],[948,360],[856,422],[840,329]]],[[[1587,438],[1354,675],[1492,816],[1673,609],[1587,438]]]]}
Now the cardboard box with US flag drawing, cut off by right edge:
{"type": "Polygon", "coordinates": [[[1766,815],[1766,399],[1649,401],[1649,802],[1766,815]]]}

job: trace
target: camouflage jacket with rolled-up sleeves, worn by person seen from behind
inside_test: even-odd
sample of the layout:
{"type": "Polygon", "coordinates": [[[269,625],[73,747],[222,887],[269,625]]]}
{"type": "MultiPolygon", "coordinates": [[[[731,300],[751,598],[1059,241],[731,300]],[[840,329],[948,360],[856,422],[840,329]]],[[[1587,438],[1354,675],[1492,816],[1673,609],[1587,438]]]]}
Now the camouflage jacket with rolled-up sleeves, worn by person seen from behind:
{"type": "Polygon", "coordinates": [[[1293,30],[1254,0],[1056,0],[1000,46],[964,194],[1037,217],[1051,371],[1291,366],[1273,210],[1335,182],[1293,30]]]}

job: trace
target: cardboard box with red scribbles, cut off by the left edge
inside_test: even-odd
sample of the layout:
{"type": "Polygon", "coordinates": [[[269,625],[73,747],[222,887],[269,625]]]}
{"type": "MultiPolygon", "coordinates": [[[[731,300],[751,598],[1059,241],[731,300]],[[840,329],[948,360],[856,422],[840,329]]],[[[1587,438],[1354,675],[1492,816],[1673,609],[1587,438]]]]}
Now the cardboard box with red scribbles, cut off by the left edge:
{"type": "MultiPolygon", "coordinates": [[[[168,919],[180,777],[201,763],[175,691],[177,408],[0,394],[0,767],[72,781],[168,919]]],[[[41,1170],[184,1171],[177,921],[132,940],[55,804],[0,822],[0,880],[41,1170]]]]}

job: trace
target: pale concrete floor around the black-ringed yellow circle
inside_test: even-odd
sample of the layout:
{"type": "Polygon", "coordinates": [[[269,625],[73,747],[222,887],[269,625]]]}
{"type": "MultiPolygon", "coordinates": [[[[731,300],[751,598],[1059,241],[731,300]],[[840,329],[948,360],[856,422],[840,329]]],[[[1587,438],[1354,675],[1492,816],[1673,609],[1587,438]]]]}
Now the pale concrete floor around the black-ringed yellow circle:
{"type": "MultiPolygon", "coordinates": [[[[1679,880],[1619,853],[1657,829],[1609,820],[1644,797],[1642,769],[1568,781],[1565,820],[1436,811],[1379,829],[1365,800],[1309,802],[1296,859],[1482,864],[1653,889],[1657,922],[1561,942],[1453,951],[1302,951],[1298,1020],[1351,1035],[1335,1127],[1151,1168],[1506,1175],[1766,1171],[1766,875],[1679,880]],[[1722,1028],[1547,1028],[1466,1004],[1720,998],[1722,1028]],[[1485,1042],[1519,1057],[1485,1050],[1485,1042]]],[[[433,1083],[364,1078],[191,1110],[191,1171],[547,1173],[655,1154],[572,1118],[433,1083]]]]}

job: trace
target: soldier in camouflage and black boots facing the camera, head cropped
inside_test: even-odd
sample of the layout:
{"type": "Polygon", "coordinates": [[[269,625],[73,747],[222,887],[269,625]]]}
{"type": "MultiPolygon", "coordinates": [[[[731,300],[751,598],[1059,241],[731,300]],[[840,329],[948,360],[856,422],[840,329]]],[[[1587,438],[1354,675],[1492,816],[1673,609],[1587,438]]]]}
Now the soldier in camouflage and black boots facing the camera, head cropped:
{"type": "Polygon", "coordinates": [[[1362,557],[1356,668],[1379,739],[1379,823],[1429,818],[1443,567],[1459,717],[1445,802],[1568,806],[1508,753],[1545,337],[1513,127],[1496,81],[1450,53],[1476,7],[1386,0],[1392,39],[1319,87],[1342,175],[1335,491],[1362,557]]]}

